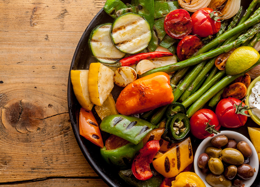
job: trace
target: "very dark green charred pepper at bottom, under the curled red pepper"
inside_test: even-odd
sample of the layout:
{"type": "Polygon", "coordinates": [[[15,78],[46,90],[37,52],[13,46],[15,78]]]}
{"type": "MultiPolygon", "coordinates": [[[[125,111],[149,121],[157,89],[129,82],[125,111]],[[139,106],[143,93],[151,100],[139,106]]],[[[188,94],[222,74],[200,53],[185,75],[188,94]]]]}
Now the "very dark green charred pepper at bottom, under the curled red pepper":
{"type": "Polygon", "coordinates": [[[152,178],[141,181],[135,178],[131,169],[129,170],[120,170],[119,176],[124,179],[128,184],[135,187],[159,187],[162,182],[162,177],[160,174],[154,170],[151,170],[153,173],[152,178]]]}

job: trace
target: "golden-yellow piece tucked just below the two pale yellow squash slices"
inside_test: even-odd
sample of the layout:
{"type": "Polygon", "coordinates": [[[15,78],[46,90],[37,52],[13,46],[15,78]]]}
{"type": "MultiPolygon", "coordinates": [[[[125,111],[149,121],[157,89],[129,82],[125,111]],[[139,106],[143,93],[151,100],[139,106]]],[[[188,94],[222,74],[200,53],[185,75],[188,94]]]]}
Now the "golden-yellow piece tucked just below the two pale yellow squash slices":
{"type": "Polygon", "coordinates": [[[101,120],[103,120],[103,118],[106,116],[119,114],[115,108],[115,101],[111,93],[101,106],[95,106],[95,110],[97,112],[97,115],[101,118],[101,120]]]}

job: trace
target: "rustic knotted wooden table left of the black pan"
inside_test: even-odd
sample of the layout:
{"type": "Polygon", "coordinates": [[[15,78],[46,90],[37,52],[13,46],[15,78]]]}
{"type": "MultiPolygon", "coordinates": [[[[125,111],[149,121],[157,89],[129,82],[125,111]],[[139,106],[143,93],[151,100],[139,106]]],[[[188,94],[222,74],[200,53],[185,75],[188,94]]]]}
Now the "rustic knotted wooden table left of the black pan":
{"type": "Polygon", "coordinates": [[[107,186],[67,106],[77,43],[105,0],[0,0],[0,186],[107,186]]]}

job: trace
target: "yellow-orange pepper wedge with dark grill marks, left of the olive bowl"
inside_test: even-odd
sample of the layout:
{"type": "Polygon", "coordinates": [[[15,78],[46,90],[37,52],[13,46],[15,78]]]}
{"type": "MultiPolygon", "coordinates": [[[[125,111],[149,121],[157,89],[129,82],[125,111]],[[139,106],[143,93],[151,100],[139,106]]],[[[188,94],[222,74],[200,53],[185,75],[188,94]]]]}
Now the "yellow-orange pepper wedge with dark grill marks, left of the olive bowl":
{"type": "Polygon", "coordinates": [[[153,161],[154,169],[165,178],[175,177],[193,162],[191,139],[186,138],[153,161]]]}

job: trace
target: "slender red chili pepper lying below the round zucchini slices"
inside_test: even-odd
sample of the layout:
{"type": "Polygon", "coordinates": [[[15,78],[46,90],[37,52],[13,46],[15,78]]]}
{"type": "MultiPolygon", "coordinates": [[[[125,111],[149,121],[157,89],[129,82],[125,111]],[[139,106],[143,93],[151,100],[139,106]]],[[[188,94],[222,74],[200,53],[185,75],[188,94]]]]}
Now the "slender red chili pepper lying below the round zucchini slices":
{"type": "Polygon", "coordinates": [[[119,62],[121,63],[121,66],[131,66],[133,64],[137,64],[141,60],[151,60],[153,58],[160,58],[165,56],[173,56],[173,54],[169,52],[162,52],[162,51],[154,51],[154,52],[148,52],[148,53],[139,53],[136,55],[131,55],[129,57],[121,59],[119,62]]]}

